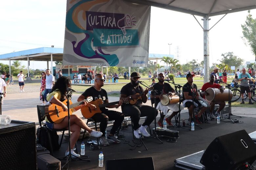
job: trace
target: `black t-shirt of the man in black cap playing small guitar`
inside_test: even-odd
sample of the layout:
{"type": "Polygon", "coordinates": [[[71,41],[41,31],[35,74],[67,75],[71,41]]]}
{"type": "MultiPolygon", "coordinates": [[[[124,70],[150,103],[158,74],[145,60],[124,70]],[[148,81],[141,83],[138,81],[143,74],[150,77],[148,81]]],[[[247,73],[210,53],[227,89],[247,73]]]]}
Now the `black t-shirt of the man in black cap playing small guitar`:
{"type": "MultiPolygon", "coordinates": [[[[120,94],[124,94],[126,96],[129,96],[129,95],[133,95],[133,94],[136,94],[136,93],[139,93],[141,94],[143,92],[143,88],[139,85],[137,86],[136,88],[133,87],[133,85],[131,83],[128,83],[126,85],[124,85],[120,91],[120,94]]],[[[142,104],[142,100],[139,99],[137,100],[137,105],[138,104],[142,104]]]]}

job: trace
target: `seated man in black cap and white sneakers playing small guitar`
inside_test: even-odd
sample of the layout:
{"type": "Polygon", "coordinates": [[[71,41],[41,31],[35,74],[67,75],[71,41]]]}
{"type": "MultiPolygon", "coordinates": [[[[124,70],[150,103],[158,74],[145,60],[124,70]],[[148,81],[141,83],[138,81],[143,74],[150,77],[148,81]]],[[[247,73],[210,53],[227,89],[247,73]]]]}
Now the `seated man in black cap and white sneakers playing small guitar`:
{"type": "MultiPolygon", "coordinates": [[[[151,106],[142,105],[147,102],[148,89],[143,91],[143,88],[139,85],[139,73],[133,72],[131,74],[131,82],[122,87],[120,91],[120,99],[129,98],[132,102],[137,102],[132,104],[123,105],[123,112],[129,114],[133,120],[134,136],[139,139],[139,133],[145,137],[149,137],[150,134],[147,132],[146,128],[153,122],[155,116],[158,114],[158,110],[151,106]],[[144,123],[139,127],[139,118],[146,116],[144,123]]],[[[130,102],[131,103],[131,102],[130,102]]]]}

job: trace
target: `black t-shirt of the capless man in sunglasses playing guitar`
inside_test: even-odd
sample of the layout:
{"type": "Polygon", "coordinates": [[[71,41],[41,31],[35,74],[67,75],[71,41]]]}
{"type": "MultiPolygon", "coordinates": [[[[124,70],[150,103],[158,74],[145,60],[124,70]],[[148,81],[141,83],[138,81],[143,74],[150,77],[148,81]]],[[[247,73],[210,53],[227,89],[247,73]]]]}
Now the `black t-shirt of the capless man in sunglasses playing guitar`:
{"type": "MultiPolygon", "coordinates": [[[[105,103],[105,100],[108,99],[108,95],[106,90],[101,89],[100,91],[97,91],[93,86],[88,88],[83,94],[82,94],[85,98],[92,96],[93,97],[93,101],[97,100],[97,99],[101,99],[103,101],[103,103],[105,103]]],[[[101,111],[104,111],[106,108],[100,108],[101,111]]]]}

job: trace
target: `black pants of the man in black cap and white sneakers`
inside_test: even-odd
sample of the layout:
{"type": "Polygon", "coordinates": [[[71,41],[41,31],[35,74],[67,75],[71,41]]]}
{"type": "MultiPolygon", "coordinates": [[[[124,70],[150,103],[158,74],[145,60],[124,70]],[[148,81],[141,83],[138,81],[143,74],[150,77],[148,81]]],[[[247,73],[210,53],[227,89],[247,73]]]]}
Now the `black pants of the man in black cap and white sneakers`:
{"type": "Polygon", "coordinates": [[[158,110],[147,105],[127,104],[124,105],[123,112],[132,117],[134,130],[137,130],[139,128],[140,117],[147,116],[142,126],[149,126],[155,119],[155,116],[158,115],[158,110]]]}

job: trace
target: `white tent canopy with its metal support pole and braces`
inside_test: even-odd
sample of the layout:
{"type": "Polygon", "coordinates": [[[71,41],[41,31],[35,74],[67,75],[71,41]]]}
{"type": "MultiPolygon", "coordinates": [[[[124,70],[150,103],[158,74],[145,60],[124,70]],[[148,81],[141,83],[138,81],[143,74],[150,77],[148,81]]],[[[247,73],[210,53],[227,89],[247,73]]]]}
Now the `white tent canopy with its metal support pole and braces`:
{"type": "MultiPolygon", "coordinates": [[[[203,17],[204,83],[209,80],[209,17],[256,9],[256,0],[126,0],[203,17]]],[[[224,16],[225,16],[224,15],[224,16]]],[[[224,17],[223,16],[223,17],[224,17]]],[[[222,17],[222,18],[223,18],[222,17]]],[[[196,17],[194,16],[196,19],[196,17]]],[[[222,19],[221,18],[221,19],[222,19]]],[[[197,20],[197,19],[196,19],[197,20]]],[[[197,21],[198,22],[198,21],[197,21]]],[[[219,21],[218,21],[219,22],[219,21]]],[[[217,22],[217,23],[218,23],[217,22]]],[[[198,22],[199,23],[199,22],[198,22]]],[[[217,24],[216,23],[216,24],[217,24]]],[[[200,24],[200,23],[199,23],[200,24]]],[[[216,25],[215,24],[215,25],[216,25]]]]}

